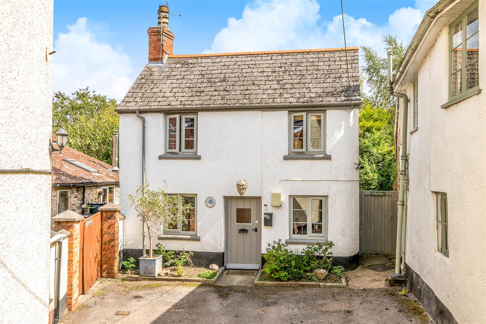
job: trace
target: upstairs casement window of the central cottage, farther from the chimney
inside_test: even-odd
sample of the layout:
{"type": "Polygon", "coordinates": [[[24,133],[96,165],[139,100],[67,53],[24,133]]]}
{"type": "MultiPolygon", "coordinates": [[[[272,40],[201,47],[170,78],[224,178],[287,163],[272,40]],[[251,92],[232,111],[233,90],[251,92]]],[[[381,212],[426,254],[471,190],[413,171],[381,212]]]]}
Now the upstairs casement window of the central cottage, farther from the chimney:
{"type": "Polygon", "coordinates": [[[325,113],[291,113],[289,151],[291,153],[324,153],[326,151],[325,124],[325,113]]]}

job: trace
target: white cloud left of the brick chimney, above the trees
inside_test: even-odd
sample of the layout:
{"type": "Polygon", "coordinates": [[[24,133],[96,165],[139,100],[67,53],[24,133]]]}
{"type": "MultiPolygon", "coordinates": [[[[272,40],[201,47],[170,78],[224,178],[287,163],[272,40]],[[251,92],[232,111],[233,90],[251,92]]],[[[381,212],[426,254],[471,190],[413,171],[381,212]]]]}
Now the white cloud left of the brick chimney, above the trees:
{"type": "Polygon", "coordinates": [[[81,17],[54,42],[53,88],[70,94],[85,86],[109,98],[122,99],[132,81],[130,57],[122,49],[99,43],[81,17]]]}

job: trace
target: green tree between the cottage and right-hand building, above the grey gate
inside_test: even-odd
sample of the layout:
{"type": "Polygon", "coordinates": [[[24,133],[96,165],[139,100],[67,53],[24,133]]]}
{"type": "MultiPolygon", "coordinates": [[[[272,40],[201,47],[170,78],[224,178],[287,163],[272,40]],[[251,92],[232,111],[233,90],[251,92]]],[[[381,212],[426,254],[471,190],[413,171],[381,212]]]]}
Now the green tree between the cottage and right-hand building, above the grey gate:
{"type": "MultiPolygon", "coordinates": [[[[383,36],[386,51],[393,53],[393,71],[396,73],[405,53],[395,36],[383,36]]],[[[386,90],[386,57],[362,47],[364,82],[368,93],[362,91],[359,112],[359,159],[361,190],[393,190],[397,181],[395,155],[395,98],[386,90]]]]}

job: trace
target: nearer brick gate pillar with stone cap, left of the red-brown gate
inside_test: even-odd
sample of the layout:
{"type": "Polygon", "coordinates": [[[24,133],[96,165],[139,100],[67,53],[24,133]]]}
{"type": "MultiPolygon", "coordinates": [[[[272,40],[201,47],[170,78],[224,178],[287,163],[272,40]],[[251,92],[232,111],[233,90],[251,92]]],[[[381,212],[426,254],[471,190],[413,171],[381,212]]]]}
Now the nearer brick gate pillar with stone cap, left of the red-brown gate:
{"type": "Polygon", "coordinates": [[[67,307],[73,310],[78,306],[79,295],[79,276],[80,264],[79,256],[81,253],[81,236],[80,236],[80,221],[85,218],[73,211],[66,210],[54,217],[55,231],[64,229],[69,231],[68,238],[68,289],[67,289],[67,307]]]}

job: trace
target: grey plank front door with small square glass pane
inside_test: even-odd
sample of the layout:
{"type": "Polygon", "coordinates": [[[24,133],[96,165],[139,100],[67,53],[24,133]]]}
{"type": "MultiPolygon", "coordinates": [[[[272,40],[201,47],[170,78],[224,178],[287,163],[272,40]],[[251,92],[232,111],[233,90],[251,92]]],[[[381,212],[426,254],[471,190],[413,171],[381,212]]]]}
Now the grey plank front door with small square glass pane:
{"type": "Polygon", "coordinates": [[[261,265],[260,198],[226,198],[226,269],[261,265]]]}

